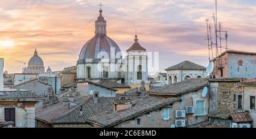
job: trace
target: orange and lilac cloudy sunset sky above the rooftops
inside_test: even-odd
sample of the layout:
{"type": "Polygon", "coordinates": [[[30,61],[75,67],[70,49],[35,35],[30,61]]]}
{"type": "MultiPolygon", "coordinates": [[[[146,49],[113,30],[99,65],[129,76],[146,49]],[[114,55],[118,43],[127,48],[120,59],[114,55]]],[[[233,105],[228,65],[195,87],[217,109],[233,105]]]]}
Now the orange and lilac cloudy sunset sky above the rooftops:
{"type": "MultiPolygon", "coordinates": [[[[1,0],[0,57],[5,70],[20,73],[35,48],[44,66],[63,70],[76,64],[82,46],[94,36],[98,4],[102,3],[107,35],[125,51],[139,43],[159,51],[163,71],[184,60],[207,66],[205,19],[214,12],[214,0],[1,0]]],[[[228,30],[232,49],[256,52],[256,1],[218,2],[218,21],[228,30]]]]}

